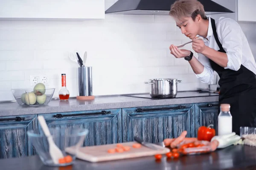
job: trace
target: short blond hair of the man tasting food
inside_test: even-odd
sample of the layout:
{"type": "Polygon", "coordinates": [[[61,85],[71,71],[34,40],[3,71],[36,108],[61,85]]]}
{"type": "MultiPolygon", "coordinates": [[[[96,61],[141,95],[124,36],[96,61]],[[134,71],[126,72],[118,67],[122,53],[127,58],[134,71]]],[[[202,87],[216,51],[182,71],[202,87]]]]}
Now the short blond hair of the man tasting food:
{"type": "Polygon", "coordinates": [[[195,17],[200,14],[204,20],[207,16],[204,12],[204,6],[198,0],[176,0],[171,6],[169,15],[174,17],[175,20],[180,20],[183,17],[195,17]]]}

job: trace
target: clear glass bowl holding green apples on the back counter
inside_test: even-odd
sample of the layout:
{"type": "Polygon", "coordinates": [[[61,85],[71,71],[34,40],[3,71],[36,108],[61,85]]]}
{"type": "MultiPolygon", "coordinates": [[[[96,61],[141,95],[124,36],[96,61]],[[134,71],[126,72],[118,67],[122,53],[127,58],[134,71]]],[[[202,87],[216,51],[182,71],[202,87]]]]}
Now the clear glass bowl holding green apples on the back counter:
{"type": "Polygon", "coordinates": [[[38,91],[44,92],[44,95],[41,95],[41,93],[38,92],[34,92],[33,88],[12,89],[12,94],[19,105],[47,105],[52,99],[55,88],[46,88],[44,90],[38,91]]]}

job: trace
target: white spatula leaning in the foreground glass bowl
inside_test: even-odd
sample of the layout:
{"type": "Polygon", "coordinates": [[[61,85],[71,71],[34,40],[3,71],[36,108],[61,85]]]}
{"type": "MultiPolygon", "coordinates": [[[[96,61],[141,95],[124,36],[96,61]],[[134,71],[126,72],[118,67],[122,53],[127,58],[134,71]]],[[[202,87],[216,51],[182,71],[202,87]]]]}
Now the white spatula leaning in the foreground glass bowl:
{"type": "Polygon", "coordinates": [[[52,157],[52,161],[54,164],[58,164],[58,160],[61,158],[64,158],[63,153],[58,148],[58,146],[54,143],[52,139],[52,135],[50,133],[50,130],[45,122],[44,116],[38,116],[38,121],[44,131],[45,136],[47,136],[48,142],[49,142],[49,153],[52,157]]]}

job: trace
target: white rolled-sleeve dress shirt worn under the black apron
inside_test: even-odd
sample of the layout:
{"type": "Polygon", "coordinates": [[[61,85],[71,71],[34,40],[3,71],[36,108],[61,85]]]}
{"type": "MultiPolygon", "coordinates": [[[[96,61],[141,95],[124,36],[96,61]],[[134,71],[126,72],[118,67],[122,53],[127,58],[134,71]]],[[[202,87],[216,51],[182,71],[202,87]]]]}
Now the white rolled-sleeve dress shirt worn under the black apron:
{"type": "MultiPolygon", "coordinates": [[[[207,39],[202,37],[204,40],[204,44],[210,48],[218,51],[220,48],[218,47],[217,42],[215,41],[212,24],[210,17],[207,39]]],[[[256,74],[256,62],[253,58],[252,51],[248,44],[248,41],[244,35],[239,24],[230,18],[220,17],[218,20],[215,20],[216,30],[218,34],[218,39],[220,40],[223,49],[227,54],[227,67],[231,70],[239,70],[241,64],[244,65],[247,69],[256,74]]],[[[198,35],[198,37],[201,37],[198,35]]],[[[201,74],[195,74],[195,76],[204,83],[208,83],[213,78],[214,70],[212,69],[209,59],[205,57],[203,54],[198,53],[198,60],[204,65],[204,71],[201,74]]]]}

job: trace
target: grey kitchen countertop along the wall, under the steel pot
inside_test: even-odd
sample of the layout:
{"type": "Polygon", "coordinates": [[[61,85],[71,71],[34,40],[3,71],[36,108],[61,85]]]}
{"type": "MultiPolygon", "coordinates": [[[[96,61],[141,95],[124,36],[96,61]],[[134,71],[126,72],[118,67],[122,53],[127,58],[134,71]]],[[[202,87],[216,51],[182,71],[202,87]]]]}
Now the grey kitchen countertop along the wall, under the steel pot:
{"type": "MultiPolygon", "coordinates": [[[[149,96],[149,94],[146,96],[149,96]]],[[[218,94],[186,91],[178,92],[176,98],[172,99],[151,99],[131,97],[127,95],[96,96],[94,100],[89,101],[77,100],[76,98],[70,98],[68,101],[52,99],[48,105],[42,106],[20,106],[17,102],[3,102],[0,103],[0,116],[58,113],[70,111],[91,111],[101,109],[175,105],[199,102],[218,102],[218,94]]]]}

